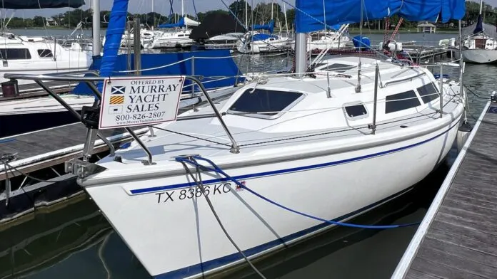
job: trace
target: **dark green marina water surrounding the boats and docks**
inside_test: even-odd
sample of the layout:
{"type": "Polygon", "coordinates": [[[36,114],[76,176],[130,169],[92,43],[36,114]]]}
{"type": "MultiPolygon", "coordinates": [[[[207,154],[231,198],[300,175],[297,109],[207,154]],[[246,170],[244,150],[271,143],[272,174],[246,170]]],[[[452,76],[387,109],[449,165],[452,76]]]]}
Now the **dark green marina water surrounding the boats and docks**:
{"type": "MultiPolygon", "coordinates": [[[[15,32],[33,35],[29,30],[15,32]]],[[[402,35],[401,39],[428,46],[451,36],[456,34],[412,33],[402,35]]],[[[383,34],[373,34],[371,39],[381,41],[383,34]]],[[[234,59],[242,71],[278,70],[292,65],[291,57],[286,55],[234,59]]],[[[458,78],[456,68],[452,72],[444,68],[444,73],[458,78]]],[[[468,91],[470,122],[476,121],[492,90],[496,89],[496,76],[497,65],[466,65],[464,84],[478,95],[468,91]]],[[[453,148],[447,161],[408,194],[352,222],[386,225],[421,221],[456,155],[453,148]]],[[[403,169],[408,172],[408,166],[403,169]]],[[[329,186],[337,183],[340,181],[329,181],[329,186]]],[[[309,178],[308,190],[312,189],[313,181],[309,178]]],[[[56,209],[35,211],[31,219],[18,226],[0,228],[0,278],[149,278],[118,233],[86,196],[81,195],[56,209]]],[[[256,266],[267,278],[390,278],[415,232],[416,227],[382,231],[334,228],[258,260],[256,266]]],[[[221,277],[258,278],[246,267],[221,277]]]]}

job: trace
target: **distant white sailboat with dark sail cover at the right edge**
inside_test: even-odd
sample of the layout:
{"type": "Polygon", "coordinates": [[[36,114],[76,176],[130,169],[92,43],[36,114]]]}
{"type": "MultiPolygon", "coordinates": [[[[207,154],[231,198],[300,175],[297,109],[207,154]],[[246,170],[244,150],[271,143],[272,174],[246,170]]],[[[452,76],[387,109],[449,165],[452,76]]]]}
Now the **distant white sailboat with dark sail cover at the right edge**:
{"type": "Polygon", "coordinates": [[[497,61],[497,32],[496,26],[483,23],[480,1],[478,21],[463,29],[463,58],[469,63],[495,63],[497,61]]]}

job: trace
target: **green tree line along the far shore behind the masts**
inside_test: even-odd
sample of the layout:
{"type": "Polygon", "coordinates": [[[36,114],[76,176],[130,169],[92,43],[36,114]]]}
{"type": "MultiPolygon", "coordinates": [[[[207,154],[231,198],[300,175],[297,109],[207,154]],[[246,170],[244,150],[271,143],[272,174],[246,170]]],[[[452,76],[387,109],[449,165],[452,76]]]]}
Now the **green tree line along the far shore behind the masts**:
{"type": "MultiPolygon", "coordinates": [[[[292,28],[293,22],[295,20],[295,9],[286,9],[284,11],[283,7],[280,4],[265,4],[258,3],[254,8],[251,7],[250,4],[246,4],[245,0],[235,1],[231,5],[229,5],[229,9],[231,13],[226,10],[214,10],[214,11],[206,11],[200,12],[196,15],[187,15],[190,19],[196,19],[197,21],[202,22],[205,17],[209,14],[232,14],[236,16],[241,23],[246,24],[245,19],[245,9],[247,9],[248,14],[248,25],[252,24],[265,24],[268,23],[271,19],[275,22],[276,28],[292,28]],[[285,21],[286,14],[286,21],[285,21]],[[286,24],[288,24],[286,26],[286,24]]],[[[480,4],[473,1],[466,1],[466,16],[464,17],[464,21],[466,21],[467,25],[475,23],[478,18],[480,10],[480,4]]],[[[497,8],[486,4],[483,2],[482,9],[483,19],[486,23],[497,24],[497,8]]],[[[82,10],[82,9],[74,9],[72,11],[66,11],[65,13],[56,14],[51,16],[48,19],[51,19],[50,26],[61,26],[64,28],[74,28],[80,22],[83,23],[84,28],[91,28],[91,9],[82,10]]],[[[101,26],[106,27],[106,23],[109,21],[110,11],[101,11],[101,26]]],[[[181,15],[179,14],[170,14],[168,16],[159,14],[159,13],[147,13],[147,14],[131,14],[128,13],[129,19],[133,19],[138,17],[141,23],[144,25],[152,27],[158,26],[161,23],[175,23],[181,15]]],[[[392,16],[390,19],[391,24],[396,24],[398,22],[398,16],[392,16]]],[[[9,20],[4,21],[8,23],[8,28],[33,28],[33,27],[44,27],[47,26],[47,18],[42,16],[34,16],[33,19],[23,19],[19,17],[13,17],[9,20]]],[[[402,27],[411,27],[416,26],[418,22],[410,22],[404,19],[402,23],[402,27]]],[[[444,26],[454,26],[456,27],[458,24],[457,21],[449,21],[444,24],[444,26]]],[[[360,23],[351,24],[351,27],[358,28],[360,23]]],[[[385,21],[369,21],[365,22],[364,26],[369,28],[385,28],[385,21]]]]}

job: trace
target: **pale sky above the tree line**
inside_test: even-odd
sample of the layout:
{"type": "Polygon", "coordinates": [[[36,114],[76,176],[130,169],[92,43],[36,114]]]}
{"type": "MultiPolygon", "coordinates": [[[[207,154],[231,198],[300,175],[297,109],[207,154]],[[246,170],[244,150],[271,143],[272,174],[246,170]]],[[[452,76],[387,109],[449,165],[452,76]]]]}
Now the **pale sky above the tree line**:
{"type": "MultiPolygon", "coordinates": [[[[22,0],[19,0],[22,1],[22,0]]],[[[92,0],[85,0],[86,4],[82,7],[82,9],[89,9],[90,3],[92,0]]],[[[167,15],[169,14],[169,0],[129,0],[129,9],[128,11],[131,14],[146,14],[149,11],[152,11],[152,1],[154,1],[154,11],[167,15]]],[[[227,5],[233,3],[236,0],[223,0],[227,5]]],[[[273,0],[274,3],[279,3],[283,5],[281,0],[273,0]]],[[[294,4],[295,0],[286,0],[288,3],[294,4]]],[[[327,1],[339,1],[339,0],[327,0],[327,1]]],[[[383,1],[383,0],[378,0],[383,1]]],[[[110,10],[113,0],[100,0],[101,10],[110,10]]],[[[194,0],[184,0],[184,9],[185,13],[194,14],[194,0]]],[[[259,2],[271,3],[271,0],[248,0],[251,6],[255,6],[259,2]],[[253,4],[252,4],[253,3],[253,4]]],[[[492,6],[497,6],[497,0],[485,0],[486,4],[490,4],[492,6]]],[[[181,12],[181,1],[174,0],[174,11],[181,12]]],[[[221,0],[195,0],[195,6],[197,12],[201,11],[209,11],[216,9],[226,9],[221,0]]],[[[289,9],[290,7],[287,7],[289,9]]],[[[25,10],[25,11],[16,11],[14,16],[25,17],[25,18],[33,18],[34,16],[54,16],[56,14],[61,14],[67,11],[68,9],[39,9],[34,10],[25,10]]],[[[7,14],[7,16],[11,15],[11,11],[7,14]]]]}

